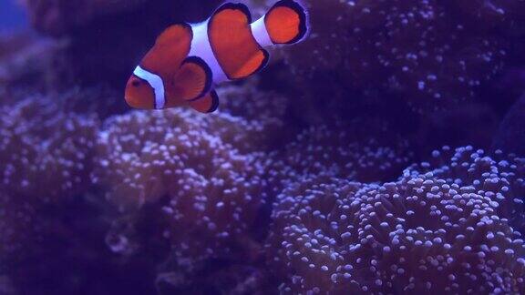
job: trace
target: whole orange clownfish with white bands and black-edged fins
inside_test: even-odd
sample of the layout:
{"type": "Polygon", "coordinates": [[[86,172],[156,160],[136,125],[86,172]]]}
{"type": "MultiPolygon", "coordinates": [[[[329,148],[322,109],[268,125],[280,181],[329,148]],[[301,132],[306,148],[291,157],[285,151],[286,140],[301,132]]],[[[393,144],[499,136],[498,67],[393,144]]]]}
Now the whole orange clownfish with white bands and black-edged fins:
{"type": "Polygon", "coordinates": [[[306,10],[293,0],[277,2],[253,23],[246,5],[221,5],[201,24],[171,25],[157,37],[129,77],[126,102],[213,112],[219,106],[215,85],[256,73],[268,63],[264,47],[297,43],[307,31],[306,10]]]}

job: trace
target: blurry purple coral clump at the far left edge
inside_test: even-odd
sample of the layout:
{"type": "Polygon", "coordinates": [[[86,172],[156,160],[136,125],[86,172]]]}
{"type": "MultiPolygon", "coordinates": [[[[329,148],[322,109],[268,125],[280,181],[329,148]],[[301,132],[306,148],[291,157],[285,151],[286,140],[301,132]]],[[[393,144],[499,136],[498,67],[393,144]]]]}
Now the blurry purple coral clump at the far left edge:
{"type": "Polygon", "coordinates": [[[48,211],[90,188],[98,119],[67,111],[59,98],[2,97],[0,265],[7,270],[0,272],[25,268],[24,259],[42,250],[42,239],[56,230],[48,211]]]}

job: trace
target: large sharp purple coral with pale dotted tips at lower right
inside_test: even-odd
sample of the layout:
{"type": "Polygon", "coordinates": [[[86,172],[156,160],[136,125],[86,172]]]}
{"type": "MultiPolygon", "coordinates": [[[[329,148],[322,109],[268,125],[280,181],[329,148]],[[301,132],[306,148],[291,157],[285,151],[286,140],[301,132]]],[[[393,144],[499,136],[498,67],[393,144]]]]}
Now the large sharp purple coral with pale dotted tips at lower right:
{"type": "Polygon", "coordinates": [[[525,244],[510,219],[521,203],[501,185],[516,168],[481,154],[459,148],[449,166],[383,185],[314,178],[284,190],[267,247],[280,290],[523,292],[525,244]]]}

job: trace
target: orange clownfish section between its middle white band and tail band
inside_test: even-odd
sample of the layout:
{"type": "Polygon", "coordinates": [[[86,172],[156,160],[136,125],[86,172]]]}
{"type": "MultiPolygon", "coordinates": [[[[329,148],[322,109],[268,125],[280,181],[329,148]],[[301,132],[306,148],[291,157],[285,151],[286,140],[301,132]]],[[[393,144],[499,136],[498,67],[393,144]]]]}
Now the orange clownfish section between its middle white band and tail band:
{"type": "Polygon", "coordinates": [[[268,63],[269,54],[252,35],[252,15],[246,5],[221,5],[208,23],[211,49],[229,79],[250,76],[268,63]]]}

